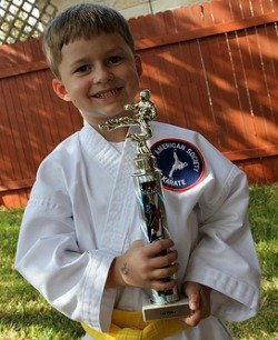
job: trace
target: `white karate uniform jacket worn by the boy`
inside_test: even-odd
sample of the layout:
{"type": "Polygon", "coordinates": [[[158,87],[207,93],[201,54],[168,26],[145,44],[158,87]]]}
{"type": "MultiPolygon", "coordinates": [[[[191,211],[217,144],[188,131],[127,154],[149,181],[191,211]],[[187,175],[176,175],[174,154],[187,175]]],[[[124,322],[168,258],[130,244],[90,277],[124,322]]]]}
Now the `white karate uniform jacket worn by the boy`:
{"type": "MultiPolygon", "coordinates": [[[[230,339],[219,319],[248,319],[259,301],[246,176],[199,133],[159,122],[152,129],[150,146],[175,139],[199,150],[200,178],[187,190],[163,193],[179,284],[196,281],[214,289],[212,316],[167,339],[230,339]]],[[[120,152],[86,123],[42,161],[20,230],[17,270],[57,310],[102,331],[115,307],[140,310],[146,296],[137,288],[105,288],[113,258],[142,238],[135,154],[132,141],[120,152]]]]}

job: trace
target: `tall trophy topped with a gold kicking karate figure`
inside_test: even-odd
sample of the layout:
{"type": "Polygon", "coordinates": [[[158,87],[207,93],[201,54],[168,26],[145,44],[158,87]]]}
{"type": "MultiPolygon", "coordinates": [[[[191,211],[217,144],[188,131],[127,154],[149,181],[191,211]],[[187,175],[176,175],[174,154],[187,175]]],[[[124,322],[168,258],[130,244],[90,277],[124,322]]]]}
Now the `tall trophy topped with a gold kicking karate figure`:
{"type": "MultiPolygon", "coordinates": [[[[130,126],[139,127],[138,133],[128,133],[127,138],[137,143],[132,176],[140,207],[141,230],[147,243],[170,238],[160,170],[156,167],[156,158],[147,144],[147,141],[152,136],[149,122],[157,116],[156,107],[149,100],[150,94],[150,91],[146,89],[140,92],[140,101],[138,103],[125,106],[125,110],[133,111],[133,114],[112,118],[99,124],[100,129],[108,130],[130,126]]],[[[163,280],[171,279],[166,278],[163,280]]],[[[151,290],[150,299],[143,301],[142,314],[145,321],[186,317],[189,313],[188,299],[180,299],[177,287],[166,291],[151,290]]]]}

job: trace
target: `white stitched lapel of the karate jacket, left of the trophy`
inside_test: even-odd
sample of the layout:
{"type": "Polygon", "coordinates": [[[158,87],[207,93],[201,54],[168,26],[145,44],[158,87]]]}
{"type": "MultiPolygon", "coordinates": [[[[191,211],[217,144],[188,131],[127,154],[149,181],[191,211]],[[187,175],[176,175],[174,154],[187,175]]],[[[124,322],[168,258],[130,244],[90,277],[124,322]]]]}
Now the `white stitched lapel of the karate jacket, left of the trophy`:
{"type": "Polygon", "coordinates": [[[81,131],[82,143],[97,162],[113,181],[100,249],[121,253],[129,234],[130,226],[140,228],[139,209],[136,202],[135,183],[132,179],[136,144],[126,140],[121,156],[92,127],[86,123],[81,131]]]}

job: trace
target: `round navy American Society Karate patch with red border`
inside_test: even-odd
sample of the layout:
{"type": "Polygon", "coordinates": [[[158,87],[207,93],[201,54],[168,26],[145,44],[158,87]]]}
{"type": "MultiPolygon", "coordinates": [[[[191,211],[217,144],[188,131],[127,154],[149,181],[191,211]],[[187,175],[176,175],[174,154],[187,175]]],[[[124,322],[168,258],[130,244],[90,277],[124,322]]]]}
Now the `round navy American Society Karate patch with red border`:
{"type": "Polygon", "coordinates": [[[195,187],[203,177],[205,161],[199,150],[186,140],[162,139],[151,147],[161,171],[162,186],[173,191],[195,187]]]}

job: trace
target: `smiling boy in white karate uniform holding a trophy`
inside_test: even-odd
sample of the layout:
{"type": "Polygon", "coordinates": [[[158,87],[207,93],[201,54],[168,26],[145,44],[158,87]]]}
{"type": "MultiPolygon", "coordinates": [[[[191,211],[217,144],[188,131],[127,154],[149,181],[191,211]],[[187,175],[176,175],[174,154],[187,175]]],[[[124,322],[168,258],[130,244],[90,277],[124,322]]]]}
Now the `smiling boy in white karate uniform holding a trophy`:
{"type": "Polygon", "coordinates": [[[245,174],[199,133],[152,122],[149,144],[175,243],[143,246],[131,176],[135,143],[126,139],[128,128],[99,129],[127,116],[123,107],[133,104],[139,88],[141,63],[126,20],[102,6],[73,6],[47,28],[43,49],[54,92],[79,109],[85,127],[38,170],[17,270],[56,309],[82,322],[86,339],[230,339],[219,319],[250,318],[259,300],[245,174]],[[177,280],[162,280],[173,273],[177,280]],[[136,330],[145,289],[176,284],[191,316],[136,330]]]}

